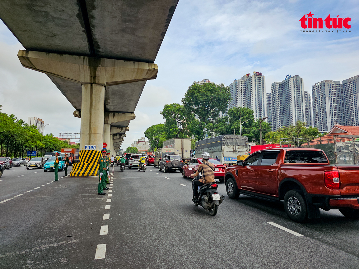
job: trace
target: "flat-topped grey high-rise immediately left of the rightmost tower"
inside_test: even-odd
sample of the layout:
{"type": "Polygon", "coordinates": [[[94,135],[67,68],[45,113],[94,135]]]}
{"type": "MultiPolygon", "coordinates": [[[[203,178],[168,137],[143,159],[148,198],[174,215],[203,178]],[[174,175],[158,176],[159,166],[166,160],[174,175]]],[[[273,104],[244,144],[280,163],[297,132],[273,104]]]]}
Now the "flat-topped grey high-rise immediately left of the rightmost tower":
{"type": "Polygon", "coordinates": [[[334,125],[345,123],[340,81],[323,80],[312,86],[313,127],[329,132],[334,125]]]}

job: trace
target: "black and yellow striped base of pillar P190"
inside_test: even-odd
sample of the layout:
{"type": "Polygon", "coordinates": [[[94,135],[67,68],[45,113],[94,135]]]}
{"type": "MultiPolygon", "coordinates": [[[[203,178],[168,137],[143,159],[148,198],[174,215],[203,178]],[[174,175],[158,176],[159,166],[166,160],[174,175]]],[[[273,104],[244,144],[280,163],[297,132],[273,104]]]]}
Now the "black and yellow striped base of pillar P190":
{"type": "Polygon", "coordinates": [[[97,176],[100,157],[99,150],[80,150],[79,162],[73,164],[70,176],[97,176]]]}

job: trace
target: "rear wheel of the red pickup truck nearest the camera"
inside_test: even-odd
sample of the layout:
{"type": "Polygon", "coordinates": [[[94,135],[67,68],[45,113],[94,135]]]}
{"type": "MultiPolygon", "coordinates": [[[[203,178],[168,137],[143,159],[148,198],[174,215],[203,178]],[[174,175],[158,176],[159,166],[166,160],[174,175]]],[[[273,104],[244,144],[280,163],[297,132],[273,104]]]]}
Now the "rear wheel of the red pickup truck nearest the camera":
{"type": "Polygon", "coordinates": [[[295,222],[305,222],[308,218],[306,200],[301,191],[289,190],[284,195],[284,211],[295,222]]]}

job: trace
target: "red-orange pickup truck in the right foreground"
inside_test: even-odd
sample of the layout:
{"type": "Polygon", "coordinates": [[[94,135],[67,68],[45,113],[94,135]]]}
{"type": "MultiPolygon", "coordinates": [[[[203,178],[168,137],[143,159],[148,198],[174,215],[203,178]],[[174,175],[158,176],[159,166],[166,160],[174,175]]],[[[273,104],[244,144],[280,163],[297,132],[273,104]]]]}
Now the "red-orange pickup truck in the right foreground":
{"type": "Polygon", "coordinates": [[[228,166],[224,183],[232,199],[245,194],[283,200],[286,214],[296,222],[319,218],[319,208],[339,209],[345,217],[359,219],[359,165],[330,165],[322,150],[257,151],[228,166]]]}

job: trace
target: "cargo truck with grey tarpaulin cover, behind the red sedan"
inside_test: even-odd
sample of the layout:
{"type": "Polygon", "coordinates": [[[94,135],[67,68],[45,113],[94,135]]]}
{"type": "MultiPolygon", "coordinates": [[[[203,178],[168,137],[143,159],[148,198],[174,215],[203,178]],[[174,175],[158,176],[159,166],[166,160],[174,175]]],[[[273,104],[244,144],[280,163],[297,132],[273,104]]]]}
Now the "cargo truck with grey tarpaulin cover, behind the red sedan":
{"type": "Polygon", "coordinates": [[[248,155],[248,137],[220,135],[197,141],[194,157],[201,158],[202,152],[208,152],[213,159],[218,156],[224,165],[235,165],[238,155],[248,155]]]}

